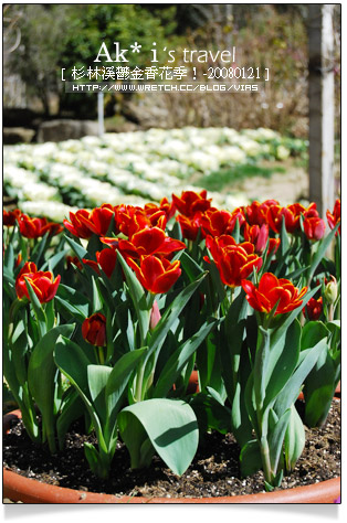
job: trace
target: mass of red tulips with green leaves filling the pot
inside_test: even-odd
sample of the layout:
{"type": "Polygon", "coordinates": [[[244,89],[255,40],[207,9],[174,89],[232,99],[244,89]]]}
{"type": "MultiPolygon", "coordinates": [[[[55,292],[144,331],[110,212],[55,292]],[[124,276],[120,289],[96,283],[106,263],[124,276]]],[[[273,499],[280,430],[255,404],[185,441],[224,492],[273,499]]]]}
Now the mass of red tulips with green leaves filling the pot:
{"type": "Polygon", "coordinates": [[[157,455],[181,476],[206,433],[231,431],[241,473],[281,485],[305,446],[299,392],[323,426],[340,378],[339,201],[328,227],[314,203],[219,211],[206,191],[3,217],[4,376],[34,442],[62,450],[82,418],[105,480],[119,439],[133,469],[157,455]]]}

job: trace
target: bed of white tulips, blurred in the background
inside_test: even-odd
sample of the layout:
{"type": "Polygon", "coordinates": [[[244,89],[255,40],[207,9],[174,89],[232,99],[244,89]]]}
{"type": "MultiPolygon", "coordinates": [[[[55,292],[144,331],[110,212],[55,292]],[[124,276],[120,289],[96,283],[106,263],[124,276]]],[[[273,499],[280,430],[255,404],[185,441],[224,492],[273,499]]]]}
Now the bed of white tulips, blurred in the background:
{"type": "MultiPolygon", "coordinates": [[[[103,203],[144,205],[181,191],[197,173],[262,159],[285,160],[305,142],[271,129],[149,129],[105,134],[59,143],[6,146],[3,181],[7,192],[31,216],[61,222],[69,211],[103,203]]],[[[201,188],[200,188],[201,189],[201,188]]],[[[245,194],[209,192],[213,204],[234,209],[245,194]]]]}

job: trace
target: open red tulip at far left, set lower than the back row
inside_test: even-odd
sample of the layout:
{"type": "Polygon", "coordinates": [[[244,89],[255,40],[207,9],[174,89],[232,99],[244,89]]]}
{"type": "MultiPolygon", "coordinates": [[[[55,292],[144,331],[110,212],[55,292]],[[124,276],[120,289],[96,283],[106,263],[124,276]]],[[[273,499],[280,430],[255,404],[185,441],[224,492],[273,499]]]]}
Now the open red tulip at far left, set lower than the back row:
{"type": "Polygon", "coordinates": [[[31,285],[40,303],[45,303],[51,301],[56,295],[61,277],[56,276],[55,280],[53,280],[52,273],[43,270],[38,271],[33,262],[27,262],[15,280],[15,292],[20,300],[24,297],[30,299],[25,280],[31,285]]]}

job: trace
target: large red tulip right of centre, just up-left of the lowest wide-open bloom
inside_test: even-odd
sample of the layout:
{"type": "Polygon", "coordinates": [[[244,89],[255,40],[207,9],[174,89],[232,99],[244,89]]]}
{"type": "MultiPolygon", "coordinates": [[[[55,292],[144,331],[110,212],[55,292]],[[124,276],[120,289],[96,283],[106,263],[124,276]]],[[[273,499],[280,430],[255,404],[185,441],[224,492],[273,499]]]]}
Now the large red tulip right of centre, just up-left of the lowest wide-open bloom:
{"type": "Polygon", "coordinates": [[[229,287],[238,287],[242,279],[248,278],[262,266],[262,258],[254,254],[254,246],[250,242],[236,244],[232,236],[222,235],[219,238],[207,236],[206,245],[209,248],[219,270],[221,280],[229,287]]]}

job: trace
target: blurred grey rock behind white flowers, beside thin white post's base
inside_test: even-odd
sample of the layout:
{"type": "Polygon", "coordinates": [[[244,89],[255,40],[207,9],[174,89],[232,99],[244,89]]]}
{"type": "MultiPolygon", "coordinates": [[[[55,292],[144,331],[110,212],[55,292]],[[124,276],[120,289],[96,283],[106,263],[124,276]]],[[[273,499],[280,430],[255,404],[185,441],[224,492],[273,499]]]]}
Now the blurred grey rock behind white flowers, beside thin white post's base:
{"type": "Polygon", "coordinates": [[[98,136],[98,125],[92,120],[50,120],[40,125],[38,142],[64,141],[83,136],[98,136]]]}

